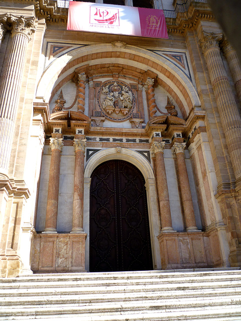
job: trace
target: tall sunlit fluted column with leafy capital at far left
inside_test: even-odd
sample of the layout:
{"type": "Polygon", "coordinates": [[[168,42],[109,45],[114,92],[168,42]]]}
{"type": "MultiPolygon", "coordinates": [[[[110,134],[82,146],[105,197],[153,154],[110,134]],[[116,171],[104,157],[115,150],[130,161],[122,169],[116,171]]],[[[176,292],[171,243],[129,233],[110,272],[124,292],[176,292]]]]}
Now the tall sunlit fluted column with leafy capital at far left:
{"type": "Polygon", "coordinates": [[[0,171],[4,174],[10,162],[27,45],[35,31],[33,17],[6,15],[6,20],[12,25],[13,42],[0,92],[0,171]]]}

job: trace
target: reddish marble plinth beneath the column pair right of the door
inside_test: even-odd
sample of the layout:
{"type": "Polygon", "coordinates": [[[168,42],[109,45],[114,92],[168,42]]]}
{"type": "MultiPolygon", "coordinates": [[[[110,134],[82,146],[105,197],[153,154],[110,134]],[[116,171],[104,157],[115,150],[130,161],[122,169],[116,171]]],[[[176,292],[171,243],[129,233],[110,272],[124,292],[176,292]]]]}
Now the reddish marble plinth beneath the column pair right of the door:
{"type": "Polygon", "coordinates": [[[210,235],[204,232],[161,233],[158,236],[158,240],[162,269],[221,266],[218,236],[214,234],[212,233],[210,240],[210,235]],[[214,245],[212,248],[213,253],[210,252],[210,241],[214,245]],[[213,242],[216,242],[216,245],[213,242]]]}

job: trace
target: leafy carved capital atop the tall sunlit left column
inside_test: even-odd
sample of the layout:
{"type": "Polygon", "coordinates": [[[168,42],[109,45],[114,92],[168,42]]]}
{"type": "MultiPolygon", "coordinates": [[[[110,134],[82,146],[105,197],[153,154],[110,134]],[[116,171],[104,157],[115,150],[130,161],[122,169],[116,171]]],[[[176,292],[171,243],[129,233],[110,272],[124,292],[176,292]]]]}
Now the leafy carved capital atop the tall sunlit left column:
{"type": "Polygon", "coordinates": [[[28,37],[29,41],[31,40],[30,36],[35,32],[36,27],[34,26],[34,17],[25,18],[24,16],[9,18],[9,21],[12,23],[12,35],[16,33],[24,34],[28,37]]]}

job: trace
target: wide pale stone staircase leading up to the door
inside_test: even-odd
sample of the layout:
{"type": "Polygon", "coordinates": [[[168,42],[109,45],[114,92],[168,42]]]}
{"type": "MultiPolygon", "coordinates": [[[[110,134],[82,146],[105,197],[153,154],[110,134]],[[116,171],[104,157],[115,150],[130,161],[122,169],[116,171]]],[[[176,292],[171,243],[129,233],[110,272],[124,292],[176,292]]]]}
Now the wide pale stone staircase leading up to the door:
{"type": "Polygon", "coordinates": [[[241,320],[241,270],[35,274],[0,279],[0,320],[241,320]]]}

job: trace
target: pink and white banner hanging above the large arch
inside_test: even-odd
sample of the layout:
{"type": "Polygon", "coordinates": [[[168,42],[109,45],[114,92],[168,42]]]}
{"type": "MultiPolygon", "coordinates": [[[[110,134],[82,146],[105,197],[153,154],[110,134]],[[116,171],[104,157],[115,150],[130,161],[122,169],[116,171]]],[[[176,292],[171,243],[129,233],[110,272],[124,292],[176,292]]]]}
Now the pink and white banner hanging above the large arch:
{"type": "Polygon", "coordinates": [[[168,39],[162,10],[70,2],[67,30],[168,39]]]}

